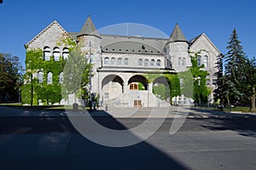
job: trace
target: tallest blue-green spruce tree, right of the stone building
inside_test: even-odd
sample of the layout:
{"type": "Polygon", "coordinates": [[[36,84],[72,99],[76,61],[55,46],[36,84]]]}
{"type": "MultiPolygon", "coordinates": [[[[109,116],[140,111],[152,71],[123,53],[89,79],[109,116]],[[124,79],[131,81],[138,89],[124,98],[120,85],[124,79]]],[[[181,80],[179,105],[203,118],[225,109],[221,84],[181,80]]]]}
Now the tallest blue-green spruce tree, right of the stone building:
{"type": "Polygon", "coordinates": [[[244,75],[246,67],[245,53],[242,50],[241,42],[238,40],[236,29],[230,35],[227,49],[229,51],[224,55],[226,62],[224,85],[226,99],[228,105],[230,105],[230,102],[235,103],[243,97],[244,94],[241,92],[241,88],[243,86],[242,82],[246,78],[244,75]]]}

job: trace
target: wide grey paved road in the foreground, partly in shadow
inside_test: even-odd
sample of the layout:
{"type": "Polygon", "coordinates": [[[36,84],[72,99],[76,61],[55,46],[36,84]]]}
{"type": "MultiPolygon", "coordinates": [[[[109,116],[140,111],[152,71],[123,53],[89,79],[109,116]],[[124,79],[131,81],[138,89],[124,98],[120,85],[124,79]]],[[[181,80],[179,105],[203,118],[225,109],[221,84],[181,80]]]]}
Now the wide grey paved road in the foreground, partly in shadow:
{"type": "MultiPolygon", "coordinates": [[[[111,116],[94,119],[119,130],[136,127],[145,120],[111,116]]],[[[67,116],[1,116],[0,166],[1,169],[255,169],[255,116],[189,118],[177,133],[170,135],[172,122],[172,118],[167,118],[154,135],[139,144],[111,148],[85,139],[67,116]]]]}

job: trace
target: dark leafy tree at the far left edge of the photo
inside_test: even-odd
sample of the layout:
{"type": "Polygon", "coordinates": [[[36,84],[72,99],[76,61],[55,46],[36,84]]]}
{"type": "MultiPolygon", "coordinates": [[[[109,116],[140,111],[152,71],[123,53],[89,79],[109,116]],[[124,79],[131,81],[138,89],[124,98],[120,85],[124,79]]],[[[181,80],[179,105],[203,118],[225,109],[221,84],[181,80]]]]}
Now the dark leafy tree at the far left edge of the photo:
{"type": "Polygon", "coordinates": [[[0,54],[0,102],[19,99],[22,67],[19,57],[12,54],[0,54]]]}

